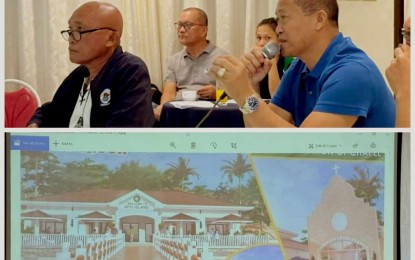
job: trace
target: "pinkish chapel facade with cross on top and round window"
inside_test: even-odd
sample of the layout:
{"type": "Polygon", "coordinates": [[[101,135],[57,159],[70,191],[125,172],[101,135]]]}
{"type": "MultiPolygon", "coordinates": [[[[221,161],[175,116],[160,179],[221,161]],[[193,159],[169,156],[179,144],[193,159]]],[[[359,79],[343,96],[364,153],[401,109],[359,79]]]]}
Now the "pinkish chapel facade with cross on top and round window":
{"type": "Polygon", "coordinates": [[[383,259],[383,229],[377,211],[355,195],[353,186],[339,175],[323,191],[307,219],[310,260],[383,259]]]}

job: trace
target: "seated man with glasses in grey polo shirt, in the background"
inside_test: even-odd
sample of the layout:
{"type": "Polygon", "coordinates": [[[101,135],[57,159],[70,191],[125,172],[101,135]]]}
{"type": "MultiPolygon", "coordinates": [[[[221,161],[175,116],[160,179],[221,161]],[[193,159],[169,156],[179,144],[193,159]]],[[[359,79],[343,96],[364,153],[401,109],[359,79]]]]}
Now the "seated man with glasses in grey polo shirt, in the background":
{"type": "Polygon", "coordinates": [[[154,110],[157,119],[163,104],[180,100],[183,90],[196,90],[200,99],[215,99],[216,81],[205,70],[216,57],[227,54],[207,40],[208,17],[203,10],[195,7],[183,10],[174,26],[184,48],[168,61],[160,105],[154,110]]]}

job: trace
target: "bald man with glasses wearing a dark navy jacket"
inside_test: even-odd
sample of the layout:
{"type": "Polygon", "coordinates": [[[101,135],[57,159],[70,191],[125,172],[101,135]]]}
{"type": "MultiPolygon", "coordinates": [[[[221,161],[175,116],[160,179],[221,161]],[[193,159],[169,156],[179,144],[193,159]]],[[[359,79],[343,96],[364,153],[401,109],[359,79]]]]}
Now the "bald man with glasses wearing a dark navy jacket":
{"type": "Polygon", "coordinates": [[[120,11],[87,2],[72,14],[70,61],[80,66],[59,86],[51,102],[38,108],[28,127],[152,127],[150,76],[139,57],[123,52],[120,11]]]}

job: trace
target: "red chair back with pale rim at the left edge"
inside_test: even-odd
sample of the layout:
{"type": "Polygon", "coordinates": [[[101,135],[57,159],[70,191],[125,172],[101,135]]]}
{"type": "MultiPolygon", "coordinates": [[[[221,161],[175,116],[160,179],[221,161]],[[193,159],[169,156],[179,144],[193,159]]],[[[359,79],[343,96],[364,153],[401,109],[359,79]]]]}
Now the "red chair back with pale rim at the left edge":
{"type": "Polygon", "coordinates": [[[4,126],[25,127],[36,108],[41,106],[39,95],[32,86],[24,81],[6,79],[5,83],[15,83],[23,88],[5,92],[4,126]]]}

